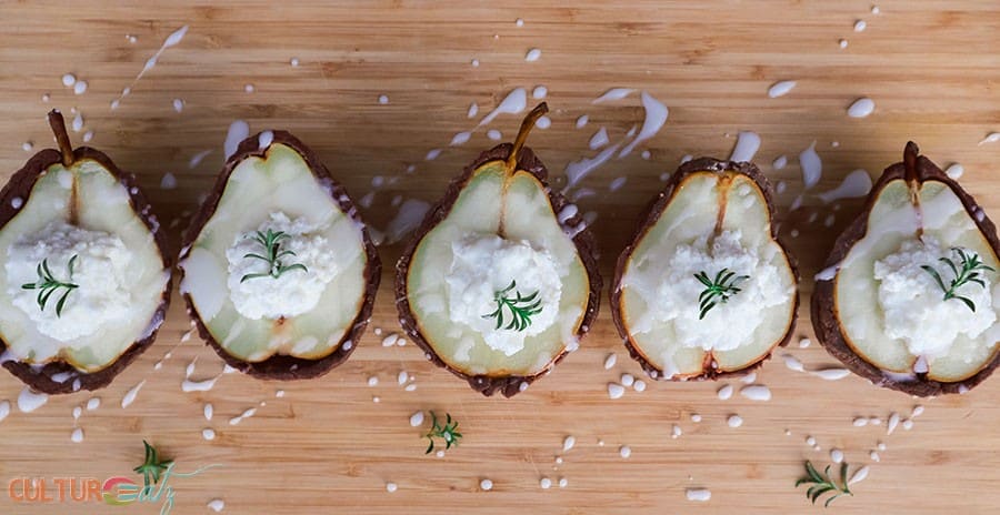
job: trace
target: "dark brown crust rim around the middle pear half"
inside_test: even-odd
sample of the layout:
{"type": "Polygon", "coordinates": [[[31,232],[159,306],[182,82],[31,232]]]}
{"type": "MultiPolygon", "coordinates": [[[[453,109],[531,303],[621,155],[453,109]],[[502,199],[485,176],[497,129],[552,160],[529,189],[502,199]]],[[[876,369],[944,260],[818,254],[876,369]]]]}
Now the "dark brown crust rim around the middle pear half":
{"type": "MultiPolygon", "coordinates": [[[[423,333],[420,332],[420,327],[417,324],[416,316],[413,315],[412,310],[410,309],[410,301],[407,297],[407,274],[410,270],[410,261],[413,258],[413,252],[417,250],[417,245],[423,240],[423,236],[427,235],[434,226],[438,225],[448,213],[451,212],[451,208],[454,205],[456,200],[458,200],[458,195],[461,190],[464,188],[466,183],[469,182],[469,179],[472,178],[472,174],[476,170],[490,161],[506,161],[510,156],[511,149],[513,148],[510,143],[502,143],[492,149],[481,153],[471,164],[466,166],[462,171],[461,175],[457,176],[451,183],[448,185],[448,189],[444,190],[444,194],[438,203],[428,211],[427,215],[423,219],[423,222],[413,233],[410,239],[410,242],[407,244],[406,251],[400,256],[399,261],[396,264],[396,307],[399,311],[399,323],[402,325],[403,331],[409,335],[420,349],[423,350],[427,357],[436,365],[448,370],[452,374],[466,380],[469,382],[469,385],[472,390],[486,395],[491,396],[497,392],[500,392],[504,397],[511,397],[521,392],[521,384],[531,384],[537,381],[542,375],[548,374],[563,357],[570,352],[568,349],[563,347],[563,350],[550,361],[544,368],[539,371],[532,375],[502,375],[502,376],[491,376],[491,375],[470,375],[466,372],[462,372],[448,363],[441,360],[440,356],[434,352],[433,347],[428,343],[423,333]]],[[[548,183],[549,171],[546,169],[546,165],[534,155],[534,152],[531,151],[530,148],[523,147],[518,153],[518,170],[523,170],[538,179],[539,182],[546,188],[549,195],[549,203],[552,205],[552,212],[559,213],[569,202],[566,198],[552,190],[548,183]]],[[[573,216],[569,218],[561,225],[566,226],[579,226],[583,223],[583,218],[577,213],[573,216]]],[[[572,238],[573,244],[577,246],[577,253],[580,255],[580,261],[583,263],[583,269],[587,270],[587,277],[590,281],[590,295],[588,297],[587,309],[583,311],[583,319],[580,322],[580,329],[577,331],[576,336],[580,340],[590,331],[591,325],[593,324],[594,319],[598,314],[598,309],[600,307],[600,291],[601,291],[601,276],[597,266],[597,259],[594,258],[597,253],[597,241],[593,238],[593,234],[589,229],[583,229],[572,238]]]]}

